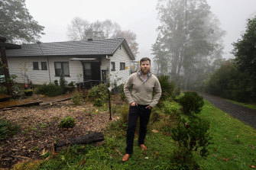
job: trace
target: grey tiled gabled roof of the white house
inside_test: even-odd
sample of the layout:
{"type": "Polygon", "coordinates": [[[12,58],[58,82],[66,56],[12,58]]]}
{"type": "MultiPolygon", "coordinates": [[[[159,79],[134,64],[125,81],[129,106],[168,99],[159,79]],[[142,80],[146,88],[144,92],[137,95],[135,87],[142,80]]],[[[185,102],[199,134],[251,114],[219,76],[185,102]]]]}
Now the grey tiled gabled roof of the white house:
{"type": "Polygon", "coordinates": [[[134,59],[125,38],[30,43],[21,45],[21,49],[6,50],[6,56],[112,56],[121,44],[130,58],[134,59]]]}

